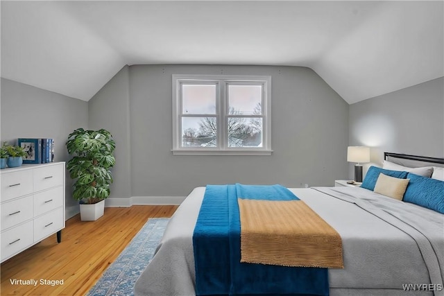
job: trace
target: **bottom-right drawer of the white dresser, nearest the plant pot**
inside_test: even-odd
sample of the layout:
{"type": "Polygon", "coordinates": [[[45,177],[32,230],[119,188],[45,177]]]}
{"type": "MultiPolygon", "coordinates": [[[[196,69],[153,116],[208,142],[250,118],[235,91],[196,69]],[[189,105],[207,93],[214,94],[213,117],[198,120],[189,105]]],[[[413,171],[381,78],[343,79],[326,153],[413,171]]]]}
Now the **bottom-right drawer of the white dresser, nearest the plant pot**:
{"type": "Polygon", "coordinates": [[[63,209],[62,207],[50,211],[48,214],[44,214],[34,220],[34,239],[40,241],[46,236],[57,232],[64,226],[63,221],[63,209]]]}

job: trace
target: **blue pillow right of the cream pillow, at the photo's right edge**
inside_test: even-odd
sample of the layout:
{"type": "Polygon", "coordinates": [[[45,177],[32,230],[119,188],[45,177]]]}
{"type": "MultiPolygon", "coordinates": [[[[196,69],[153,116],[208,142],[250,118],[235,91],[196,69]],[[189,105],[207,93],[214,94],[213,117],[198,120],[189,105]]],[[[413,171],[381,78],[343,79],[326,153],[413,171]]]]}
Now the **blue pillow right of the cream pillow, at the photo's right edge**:
{"type": "Polygon", "coordinates": [[[404,193],[404,202],[418,204],[444,214],[444,181],[409,173],[409,186],[404,193]]]}

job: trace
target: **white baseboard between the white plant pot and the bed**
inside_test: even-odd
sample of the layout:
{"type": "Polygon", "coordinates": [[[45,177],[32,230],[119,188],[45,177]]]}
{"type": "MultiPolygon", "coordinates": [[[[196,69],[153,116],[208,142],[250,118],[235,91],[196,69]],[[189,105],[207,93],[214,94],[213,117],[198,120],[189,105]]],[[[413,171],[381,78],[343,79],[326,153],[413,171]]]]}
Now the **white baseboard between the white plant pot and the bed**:
{"type": "Polygon", "coordinates": [[[131,207],[133,205],[181,204],[186,196],[132,196],[130,198],[107,198],[105,207],[131,207]]]}

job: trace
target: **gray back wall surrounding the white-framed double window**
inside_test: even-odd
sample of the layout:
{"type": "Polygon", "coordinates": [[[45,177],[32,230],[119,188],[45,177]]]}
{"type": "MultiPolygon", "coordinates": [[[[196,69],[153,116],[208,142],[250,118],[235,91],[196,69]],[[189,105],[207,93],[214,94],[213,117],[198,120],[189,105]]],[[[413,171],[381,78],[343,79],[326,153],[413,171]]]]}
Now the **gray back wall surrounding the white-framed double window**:
{"type": "Polygon", "coordinates": [[[133,196],[185,196],[233,182],[333,185],[348,169],[348,104],[303,67],[131,66],[130,130],[133,196]],[[273,154],[172,155],[172,74],[271,75],[273,154]]]}

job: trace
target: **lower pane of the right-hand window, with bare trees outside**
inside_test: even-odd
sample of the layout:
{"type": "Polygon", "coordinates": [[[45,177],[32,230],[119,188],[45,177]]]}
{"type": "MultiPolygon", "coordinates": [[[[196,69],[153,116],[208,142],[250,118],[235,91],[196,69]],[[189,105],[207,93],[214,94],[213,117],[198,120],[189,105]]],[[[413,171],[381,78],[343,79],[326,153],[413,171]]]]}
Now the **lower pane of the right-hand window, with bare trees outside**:
{"type": "Polygon", "coordinates": [[[228,147],[262,147],[262,118],[228,118],[228,147]]]}

